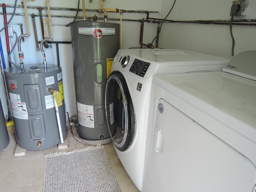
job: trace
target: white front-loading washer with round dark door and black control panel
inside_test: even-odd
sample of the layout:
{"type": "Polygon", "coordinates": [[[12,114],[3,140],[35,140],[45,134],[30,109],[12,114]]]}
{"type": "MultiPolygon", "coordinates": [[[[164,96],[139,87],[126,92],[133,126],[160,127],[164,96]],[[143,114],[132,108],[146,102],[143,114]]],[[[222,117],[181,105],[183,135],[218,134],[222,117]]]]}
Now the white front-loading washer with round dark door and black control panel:
{"type": "Polygon", "coordinates": [[[114,148],[141,191],[152,78],[155,74],[218,71],[228,59],[182,50],[122,49],[105,90],[106,120],[114,148]]]}

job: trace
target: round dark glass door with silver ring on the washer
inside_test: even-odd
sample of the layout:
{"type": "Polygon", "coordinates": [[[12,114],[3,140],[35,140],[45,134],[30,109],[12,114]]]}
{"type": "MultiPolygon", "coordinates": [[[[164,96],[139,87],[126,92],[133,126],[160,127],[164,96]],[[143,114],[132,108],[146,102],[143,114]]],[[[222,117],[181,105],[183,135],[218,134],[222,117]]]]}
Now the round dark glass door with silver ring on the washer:
{"type": "Polygon", "coordinates": [[[134,110],[124,76],[118,71],[108,77],[105,108],[113,143],[118,150],[125,151],[132,143],[134,134],[134,110]]]}

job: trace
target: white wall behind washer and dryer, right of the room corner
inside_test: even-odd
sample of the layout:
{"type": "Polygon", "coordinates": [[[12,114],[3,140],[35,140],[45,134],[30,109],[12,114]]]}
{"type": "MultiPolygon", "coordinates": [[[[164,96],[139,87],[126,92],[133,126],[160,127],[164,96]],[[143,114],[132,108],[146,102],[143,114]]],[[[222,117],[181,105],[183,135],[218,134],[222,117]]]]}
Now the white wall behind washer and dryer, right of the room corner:
{"type": "MultiPolygon", "coordinates": [[[[162,18],[174,0],[162,0],[162,18]]],[[[176,0],[169,20],[230,20],[233,0],[176,0]]],[[[256,19],[256,1],[250,0],[246,16],[235,19],[256,19]]],[[[235,38],[234,53],[256,49],[256,26],[232,26],[235,38]]],[[[229,25],[165,23],[159,46],[179,48],[206,54],[231,57],[232,40],[229,25]]]]}

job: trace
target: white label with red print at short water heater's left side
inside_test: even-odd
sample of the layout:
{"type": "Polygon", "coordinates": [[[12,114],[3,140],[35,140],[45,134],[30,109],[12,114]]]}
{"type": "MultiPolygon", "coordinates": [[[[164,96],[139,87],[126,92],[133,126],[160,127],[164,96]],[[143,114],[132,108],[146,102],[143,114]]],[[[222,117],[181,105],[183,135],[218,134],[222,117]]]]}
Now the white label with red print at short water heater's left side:
{"type": "Polygon", "coordinates": [[[10,101],[12,116],[18,119],[28,119],[26,103],[10,101]]]}

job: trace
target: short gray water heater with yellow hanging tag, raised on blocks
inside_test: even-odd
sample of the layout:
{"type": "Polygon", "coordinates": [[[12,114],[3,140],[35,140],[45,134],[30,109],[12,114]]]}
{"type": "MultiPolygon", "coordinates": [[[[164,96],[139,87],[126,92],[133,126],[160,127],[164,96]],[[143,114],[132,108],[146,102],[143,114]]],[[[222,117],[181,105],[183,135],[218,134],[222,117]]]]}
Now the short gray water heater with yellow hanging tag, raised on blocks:
{"type": "Polygon", "coordinates": [[[61,134],[63,138],[67,135],[62,69],[57,65],[44,68],[43,64],[24,68],[12,66],[4,71],[17,142],[29,150],[55,146],[61,142],[61,134]],[[49,88],[59,92],[62,105],[58,113],[49,88]]]}

